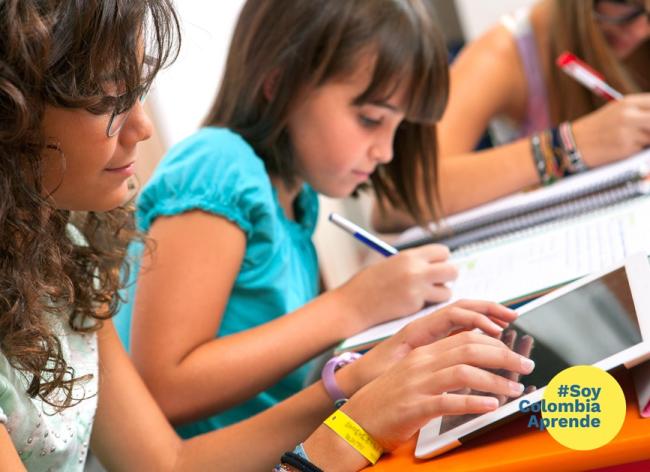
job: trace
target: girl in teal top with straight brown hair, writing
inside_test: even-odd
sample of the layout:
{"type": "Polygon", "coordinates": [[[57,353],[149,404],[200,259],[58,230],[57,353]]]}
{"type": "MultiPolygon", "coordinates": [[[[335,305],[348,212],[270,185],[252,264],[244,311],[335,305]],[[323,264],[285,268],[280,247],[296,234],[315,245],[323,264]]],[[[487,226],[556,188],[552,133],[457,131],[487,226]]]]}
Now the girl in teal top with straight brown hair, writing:
{"type": "Polygon", "coordinates": [[[450,296],[456,271],[435,245],[318,296],[311,240],[316,192],[372,187],[433,218],[415,195],[432,193],[445,71],[425,2],[245,4],[206,128],[163,158],[138,200],[155,251],[120,314],[183,435],[275,405],[337,341],[450,296]]]}

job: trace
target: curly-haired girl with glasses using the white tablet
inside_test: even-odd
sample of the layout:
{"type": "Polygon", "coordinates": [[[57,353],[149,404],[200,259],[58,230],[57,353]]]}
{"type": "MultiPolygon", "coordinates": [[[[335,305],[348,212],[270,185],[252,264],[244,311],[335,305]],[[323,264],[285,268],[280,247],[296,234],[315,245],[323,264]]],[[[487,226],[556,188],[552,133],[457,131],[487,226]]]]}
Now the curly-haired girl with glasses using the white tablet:
{"type": "MultiPolygon", "coordinates": [[[[248,421],[182,441],[113,328],[116,290],[124,287],[120,267],[135,236],[129,180],[137,145],[152,133],[140,97],[174,55],[177,27],[166,0],[78,2],[74,8],[70,2],[0,2],[0,470],[82,471],[90,448],[107,470],[270,470],[305,438],[304,450],[322,469],[332,470],[327,459],[335,458],[339,470],[358,470],[367,464],[364,457],[319,426],[333,409],[321,382],[248,421]]],[[[199,182],[198,171],[195,177],[199,182]]],[[[237,198],[221,203],[237,218],[237,198]]],[[[257,211],[252,205],[245,216],[261,225],[257,211]]],[[[160,255],[165,263],[164,251],[160,255]]],[[[200,256],[213,262],[209,253],[200,256]]],[[[215,283],[176,269],[175,276],[194,285],[215,283]]],[[[178,311],[179,325],[192,323],[191,314],[178,311]]],[[[459,368],[517,370],[519,356],[476,333],[440,338],[459,327],[496,336],[490,317],[503,323],[514,316],[495,304],[467,302],[414,322],[337,373],[352,394],[343,410],[390,449],[433,416],[494,409],[493,398],[442,395],[442,389],[483,385],[506,393],[506,379],[477,367],[482,375],[459,381],[459,368]],[[472,349],[462,349],[467,343],[472,349]],[[440,364],[441,356],[451,361],[440,364]]],[[[166,343],[173,349],[184,338],[182,330],[170,332],[166,343]]],[[[247,356],[231,351],[220,359],[224,365],[247,356]]],[[[260,370],[278,358],[282,363],[282,355],[282,346],[269,349],[260,370]]],[[[242,379],[250,379],[244,370],[219,383],[229,391],[242,379]]],[[[193,386],[200,390],[202,381],[196,376],[193,386]]]]}

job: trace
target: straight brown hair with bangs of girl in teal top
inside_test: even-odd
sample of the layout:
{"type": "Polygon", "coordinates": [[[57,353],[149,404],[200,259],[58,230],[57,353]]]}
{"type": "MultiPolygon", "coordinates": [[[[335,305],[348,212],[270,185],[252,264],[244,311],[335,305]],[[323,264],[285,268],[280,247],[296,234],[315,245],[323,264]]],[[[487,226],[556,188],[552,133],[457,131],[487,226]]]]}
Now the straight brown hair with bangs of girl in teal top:
{"type": "Polygon", "coordinates": [[[369,51],[374,71],[357,103],[386,99],[404,84],[408,95],[394,159],[372,176],[374,190],[380,201],[405,208],[418,221],[431,220],[437,214],[433,124],[445,108],[449,79],[429,0],[248,0],[205,124],[240,133],[269,173],[291,184],[295,167],[286,126],[298,92],[352,73],[369,51]],[[263,84],[271,76],[274,95],[267,100],[263,84]]]}

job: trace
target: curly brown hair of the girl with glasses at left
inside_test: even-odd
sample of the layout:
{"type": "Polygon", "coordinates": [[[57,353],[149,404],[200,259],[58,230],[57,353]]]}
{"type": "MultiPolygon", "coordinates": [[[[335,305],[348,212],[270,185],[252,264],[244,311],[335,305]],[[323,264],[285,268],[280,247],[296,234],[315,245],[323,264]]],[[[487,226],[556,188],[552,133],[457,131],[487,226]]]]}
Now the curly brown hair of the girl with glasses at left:
{"type": "Polygon", "coordinates": [[[54,406],[65,408],[82,379],[44,315],[99,329],[116,312],[137,235],[130,204],[55,208],[41,176],[43,112],[130,108],[177,55],[179,24],[170,0],[0,0],[0,37],[0,350],[28,379],[30,397],[53,404],[61,390],[54,406]],[[107,82],[123,93],[107,96],[107,82]]]}

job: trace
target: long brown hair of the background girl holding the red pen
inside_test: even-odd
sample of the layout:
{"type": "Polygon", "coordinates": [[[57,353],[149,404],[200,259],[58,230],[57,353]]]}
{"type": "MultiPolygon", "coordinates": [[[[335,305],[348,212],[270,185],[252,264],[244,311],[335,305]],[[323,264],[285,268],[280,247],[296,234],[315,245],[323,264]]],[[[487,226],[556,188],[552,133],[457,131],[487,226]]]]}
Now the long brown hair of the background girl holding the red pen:
{"type": "Polygon", "coordinates": [[[607,44],[593,13],[595,0],[555,0],[551,14],[553,31],[550,34],[548,87],[551,118],[554,123],[574,120],[586,115],[605,102],[555,66],[555,59],[564,51],[571,51],[622,93],[650,90],[650,41],[634,53],[634,58],[645,58],[644,69],[635,70],[627,61],[619,60],[607,44]]]}

